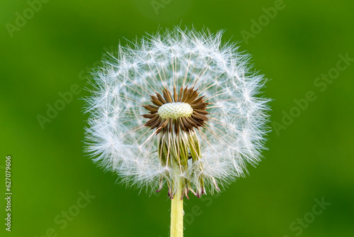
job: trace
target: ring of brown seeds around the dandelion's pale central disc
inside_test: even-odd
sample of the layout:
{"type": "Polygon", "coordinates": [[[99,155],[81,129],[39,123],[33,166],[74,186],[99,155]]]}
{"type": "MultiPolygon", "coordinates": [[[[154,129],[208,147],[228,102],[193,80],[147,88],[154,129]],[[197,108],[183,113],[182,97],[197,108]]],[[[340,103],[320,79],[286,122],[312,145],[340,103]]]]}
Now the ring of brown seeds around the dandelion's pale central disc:
{"type": "Polygon", "coordinates": [[[152,97],[152,104],[144,105],[143,107],[149,111],[149,114],[143,114],[144,118],[149,118],[149,121],[145,123],[145,126],[151,129],[156,128],[156,133],[167,132],[170,133],[174,130],[176,134],[180,131],[190,131],[194,128],[199,128],[205,126],[205,121],[207,118],[206,107],[209,103],[205,102],[204,96],[200,97],[197,92],[198,89],[193,87],[189,88],[181,87],[179,93],[176,92],[176,86],[173,87],[173,95],[168,89],[164,89],[163,96],[156,93],[156,96],[150,95],[152,97]],[[190,104],[193,108],[193,113],[188,117],[179,118],[161,118],[158,111],[160,106],[167,103],[173,102],[183,102],[190,104]]]}

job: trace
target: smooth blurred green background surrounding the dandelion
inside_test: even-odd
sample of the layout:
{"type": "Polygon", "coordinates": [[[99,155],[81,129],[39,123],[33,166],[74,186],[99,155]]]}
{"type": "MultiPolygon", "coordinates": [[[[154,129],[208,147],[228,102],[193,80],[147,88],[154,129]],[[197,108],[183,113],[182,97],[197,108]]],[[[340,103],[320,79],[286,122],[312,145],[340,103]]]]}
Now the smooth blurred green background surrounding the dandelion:
{"type": "Polygon", "coordinates": [[[271,79],[265,96],[274,99],[275,122],[265,159],[249,177],[215,198],[185,201],[185,236],[354,236],[354,62],[338,56],[354,57],[353,1],[39,3],[0,3],[1,197],[6,155],[13,192],[12,231],[4,230],[1,198],[0,236],[169,236],[166,193],[148,197],[115,184],[117,177],[84,154],[80,98],[105,51],[179,24],[226,29],[224,40],[239,41],[253,55],[256,69],[271,79]],[[275,15],[274,6],[276,16],[266,16],[275,15]],[[333,81],[316,79],[328,73],[333,81]],[[72,101],[42,128],[38,115],[72,87],[78,90],[72,101]],[[316,99],[297,109],[294,99],[311,92],[316,99]],[[286,121],[284,113],[296,118],[286,121]],[[89,202],[80,192],[89,192],[89,202]]]}

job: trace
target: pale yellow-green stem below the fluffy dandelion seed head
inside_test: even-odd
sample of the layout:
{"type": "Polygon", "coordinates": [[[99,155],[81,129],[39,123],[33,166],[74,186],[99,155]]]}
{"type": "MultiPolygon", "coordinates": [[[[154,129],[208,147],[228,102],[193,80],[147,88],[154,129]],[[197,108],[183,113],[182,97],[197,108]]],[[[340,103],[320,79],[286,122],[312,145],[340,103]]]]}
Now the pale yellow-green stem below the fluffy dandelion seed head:
{"type": "Polygon", "coordinates": [[[171,237],[183,237],[183,199],[182,185],[178,185],[177,192],[171,200],[171,237]]]}

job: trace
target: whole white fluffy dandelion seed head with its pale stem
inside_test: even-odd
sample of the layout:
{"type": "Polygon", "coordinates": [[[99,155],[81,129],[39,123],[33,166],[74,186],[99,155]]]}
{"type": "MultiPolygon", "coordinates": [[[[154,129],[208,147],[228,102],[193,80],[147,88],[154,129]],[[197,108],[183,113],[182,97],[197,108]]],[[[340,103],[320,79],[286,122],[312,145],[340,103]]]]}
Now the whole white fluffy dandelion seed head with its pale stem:
{"type": "Polygon", "coordinates": [[[94,77],[86,149],[121,182],[167,188],[171,236],[183,235],[183,197],[219,192],[261,160],[265,79],[222,31],[176,27],[119,45],[94,77]]]}

